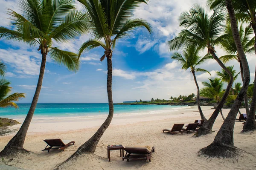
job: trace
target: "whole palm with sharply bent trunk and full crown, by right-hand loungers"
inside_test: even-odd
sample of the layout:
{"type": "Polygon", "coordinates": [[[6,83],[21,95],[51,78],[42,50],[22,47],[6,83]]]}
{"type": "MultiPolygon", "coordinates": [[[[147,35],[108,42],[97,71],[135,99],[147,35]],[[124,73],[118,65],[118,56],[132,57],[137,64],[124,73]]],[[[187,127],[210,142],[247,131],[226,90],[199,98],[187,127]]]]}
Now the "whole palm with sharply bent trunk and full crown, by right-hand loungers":
{"type": "Polygon", "coordinates": [[[198,136],[206,135],[212,133],[212,126],[218,116],[218,113],[224,106],[233,84],[233,75],[217,57],[214,48],[214,46],[221,40],[220,35],[223,32],[224,16],[216,11],[209,16],[201,6],[194,5],[189,12],[183,12],[179,20],[180,26],[183,26],[185,29],[183,29],[177,37],[168,42],[170,51],[184,48],[192,44],[197,45],[200,49],[207,48],[208,53],[211,54],[221,68],[230,75],[230,83],[227,85],[227,89],[221,98],[220,103],[212,113],[209,120],[206,121],[198,130],[198,136]]]}

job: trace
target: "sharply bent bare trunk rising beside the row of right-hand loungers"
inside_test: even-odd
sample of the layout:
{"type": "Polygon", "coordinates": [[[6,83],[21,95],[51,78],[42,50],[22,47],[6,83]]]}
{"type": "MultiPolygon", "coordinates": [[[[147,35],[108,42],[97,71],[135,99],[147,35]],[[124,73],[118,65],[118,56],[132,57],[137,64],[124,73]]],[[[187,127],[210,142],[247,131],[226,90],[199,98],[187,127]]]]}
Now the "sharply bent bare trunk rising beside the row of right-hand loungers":
{"type": "Polygon", "coordinates": [[[212,133],[212,127],[213,124],[219,114],[219,112],[221,111],[222,107],[224,106],[227,97],[230,93],[230,90],[232,88],[233,85],[233,75],[231,74],[231,72],[227,69],[227,67],[221,62],[221,60],[215,55],[215,52],[212,49],[209,49],[209,52],[212,54],[213,58],[218,62],[218,64],[221,66],[222,69],[224,69],[230,76],[230,82],[227,84],[227,89],[224,92],[224,95],[221,98],[221,101],[219,102],[218,106],[216,107],[216,109],[214,110],[214,112],[212,113],[211,117],[208,119],[207,122],[204,122],[203,126],[200,127],[200,129],[198,130],[196,136],[199,137],[201,135],[207,135],[209,133],[212,133]]]}

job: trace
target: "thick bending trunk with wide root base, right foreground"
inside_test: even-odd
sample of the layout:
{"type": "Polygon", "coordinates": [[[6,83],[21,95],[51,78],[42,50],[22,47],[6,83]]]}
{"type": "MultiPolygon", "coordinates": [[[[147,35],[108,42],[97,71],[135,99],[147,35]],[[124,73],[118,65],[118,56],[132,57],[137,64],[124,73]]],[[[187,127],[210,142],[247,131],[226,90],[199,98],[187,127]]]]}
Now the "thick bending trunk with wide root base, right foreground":
{"type": "Polygon", "coordinates": [[[198,154],[208,157],[234,158],[235,156],[238,155],[239,150],[236,147],[234,147],[233,130],[235,126],[237,112],[241,107],[241,103],[244,99],[244,95],[247,92],[250,83],[250,70],[247,63],[247,59],[244,54],[244,49],[241,44],[241,39],[239,36],[239,30],[236,22],[232,1],[225,0],[225,3],[230,16],[231,28],[236,43],[236,49],[238,51],[240,60],[244,68],[244,84],[233,106],[231,107],[230,112],[228,113],[224,123],[222,124],[217,135],[215,136],[214,141],[209,146],[202,148],[198,154]]]}

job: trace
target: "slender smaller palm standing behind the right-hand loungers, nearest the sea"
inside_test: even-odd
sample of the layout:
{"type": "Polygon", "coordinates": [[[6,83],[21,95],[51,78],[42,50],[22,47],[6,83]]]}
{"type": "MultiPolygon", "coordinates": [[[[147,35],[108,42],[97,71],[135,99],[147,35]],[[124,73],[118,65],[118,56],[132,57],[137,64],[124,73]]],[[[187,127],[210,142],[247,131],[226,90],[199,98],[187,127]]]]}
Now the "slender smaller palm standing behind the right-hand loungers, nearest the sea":
{"type": "MultiPolygon", "coordinates": [[[[196,80],[195,72],[208,72],[208,71],[206,69],[200,69],[195,67],[204,63],[207,59],[211,58],[211,56],[206,55],[203,58],[201,58],[198,54],[199,54],[199,50],[195,46],[188,46],[186,50],[183,51],[183,55],[178,52],[175,52],[174,55],[172,56],[172,59],[179,61],[180,65],[182,66],[182,69],[184,70],[191,69],[190,72],[194,77],[195,85],[197,87],[197,95],[198,95],[197,105],[198,105],[199,114],[202,120],[207,120],[204,117],[203,111],[200,106],[200,97],[199,97],[200,89],[198,86],[198,82],[196,80]]],[[[211,74],[209,73],[209,75],[211,74]]]]}

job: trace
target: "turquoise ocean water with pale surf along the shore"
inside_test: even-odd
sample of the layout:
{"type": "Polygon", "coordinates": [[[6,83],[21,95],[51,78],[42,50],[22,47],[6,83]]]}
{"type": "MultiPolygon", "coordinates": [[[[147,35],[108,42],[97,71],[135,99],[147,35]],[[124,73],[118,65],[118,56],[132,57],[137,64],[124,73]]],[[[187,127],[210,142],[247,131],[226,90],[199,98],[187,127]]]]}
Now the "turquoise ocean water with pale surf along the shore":
{"type": "MultiPolygon", "coordinates": [[[[23,119],[30,104],[17,104],[19,109],[1,108],[0,117],[23,119]]],[[[114,105],[114,114],[157,114],[176,111],[188,106],[169,105],[114,105]]],[[[189,107],[188,107],[189,108],[189,107]]],[[[33,118],[69,118],[108,114],[108,104],[37,104],[33,118]]]]}

